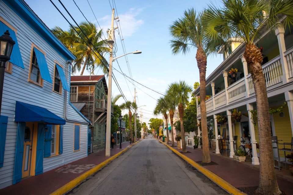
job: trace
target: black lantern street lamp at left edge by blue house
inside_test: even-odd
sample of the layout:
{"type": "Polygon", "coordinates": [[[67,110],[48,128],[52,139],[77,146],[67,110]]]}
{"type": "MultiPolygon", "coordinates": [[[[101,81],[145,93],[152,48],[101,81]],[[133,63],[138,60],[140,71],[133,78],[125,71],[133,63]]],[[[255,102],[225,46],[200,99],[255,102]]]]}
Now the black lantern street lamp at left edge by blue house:
{"type": "Polygon", "coordinates": [[[13,45],[15,44],[9,35],[9,31],[6,30],[6,32],[0,37],[0,114],[6,62],[10,60],[13,45]]]}

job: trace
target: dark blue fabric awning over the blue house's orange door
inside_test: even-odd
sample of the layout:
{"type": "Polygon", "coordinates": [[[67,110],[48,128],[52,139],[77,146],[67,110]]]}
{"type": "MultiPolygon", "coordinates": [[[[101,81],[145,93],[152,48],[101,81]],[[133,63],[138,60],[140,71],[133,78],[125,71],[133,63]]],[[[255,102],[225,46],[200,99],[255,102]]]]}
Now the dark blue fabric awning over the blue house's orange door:
{"type": "Polygon", "coordinates": [[[46,108],[16,101],[15,122],[44,122],[56,125],[65,125],[65,120],[46,108]]]}

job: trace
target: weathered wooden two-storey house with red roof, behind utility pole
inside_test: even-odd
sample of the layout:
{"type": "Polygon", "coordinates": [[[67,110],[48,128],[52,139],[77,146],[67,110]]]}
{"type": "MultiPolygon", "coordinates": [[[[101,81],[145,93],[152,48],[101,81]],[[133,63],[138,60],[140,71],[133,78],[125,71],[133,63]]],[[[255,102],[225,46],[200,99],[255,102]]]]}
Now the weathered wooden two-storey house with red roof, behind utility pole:
{"type": "MultiPolygon", "coordinates": [[[[71,76],[70,102],[91,121],[92,149],[105,148],[108,87],[104,75],[71,76]]],[[[113,107],[111,108],[113,113],[113,107]]],[[[110,138],[109,138],[110,139],[110,138]]]]}

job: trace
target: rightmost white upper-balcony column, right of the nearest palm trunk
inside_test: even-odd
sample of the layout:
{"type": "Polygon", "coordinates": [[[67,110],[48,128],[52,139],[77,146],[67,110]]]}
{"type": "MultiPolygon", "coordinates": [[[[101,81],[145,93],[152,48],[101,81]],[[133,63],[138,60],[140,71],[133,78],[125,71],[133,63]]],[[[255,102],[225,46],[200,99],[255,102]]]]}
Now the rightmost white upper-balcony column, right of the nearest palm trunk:
{"type": "Polygon", "coordinates": [[[280,58],[281,58],[281,64],[282,64],[282,70],[283,70],[282,81],[283,83],[287,83],[289,81],[289,69],[288,69],[287,59],[284,55],[284,52],[286,51],[284,33],[285,33],[284,26],[281,23],[277,23],[275,34],[277,35],[277,38],[278,38],[280,58]]]}

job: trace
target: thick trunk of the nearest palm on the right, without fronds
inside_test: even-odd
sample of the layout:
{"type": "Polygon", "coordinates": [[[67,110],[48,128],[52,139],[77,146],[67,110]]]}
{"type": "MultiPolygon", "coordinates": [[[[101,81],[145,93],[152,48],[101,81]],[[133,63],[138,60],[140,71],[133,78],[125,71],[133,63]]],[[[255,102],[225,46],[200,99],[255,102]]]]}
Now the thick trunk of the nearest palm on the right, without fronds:
{"type": "Polygon", "coordinates": [[[262,54],[255,44],[247,44],[244,58],[250,67],[254,85],[259,129],[259,160],[261,163],[259,166],[259,187],[256,191],[260,194],[279,195],[281,191],[274,168],[269,101],[261,65],[262,54]]]}

